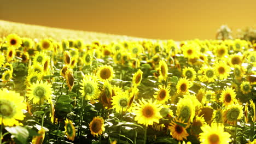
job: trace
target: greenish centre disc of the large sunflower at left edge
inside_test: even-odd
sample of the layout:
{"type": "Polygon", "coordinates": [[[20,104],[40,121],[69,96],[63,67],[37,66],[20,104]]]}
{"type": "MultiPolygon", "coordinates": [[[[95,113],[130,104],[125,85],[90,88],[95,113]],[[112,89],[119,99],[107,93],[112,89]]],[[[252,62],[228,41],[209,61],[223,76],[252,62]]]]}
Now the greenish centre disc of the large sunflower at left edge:
{"type": "Polygon", "coordinates": [[[15,113],[14,106],[11,105],[10,101],[0,101],[0,116],[1,117],[12,117],[15,113]]]}

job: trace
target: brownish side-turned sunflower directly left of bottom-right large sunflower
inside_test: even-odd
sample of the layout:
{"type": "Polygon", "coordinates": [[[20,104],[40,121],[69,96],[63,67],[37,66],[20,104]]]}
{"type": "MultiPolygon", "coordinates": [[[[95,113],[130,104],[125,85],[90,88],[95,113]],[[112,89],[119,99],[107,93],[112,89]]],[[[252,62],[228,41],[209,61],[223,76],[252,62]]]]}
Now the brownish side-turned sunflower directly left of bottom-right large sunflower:
{"type": "Polygon", "coordinates": [[[198,136],[202,133],[201,127],[206,125],[205,118],[196,116],[191,124],[191,134],[198,136]]]}

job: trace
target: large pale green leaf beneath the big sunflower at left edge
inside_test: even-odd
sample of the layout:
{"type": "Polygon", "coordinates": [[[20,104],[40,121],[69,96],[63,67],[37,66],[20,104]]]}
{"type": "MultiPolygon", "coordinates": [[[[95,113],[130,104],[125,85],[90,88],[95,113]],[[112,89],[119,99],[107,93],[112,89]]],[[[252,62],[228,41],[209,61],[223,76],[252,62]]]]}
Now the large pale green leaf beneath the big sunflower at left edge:
{"type": "Polygon", "coordinates": [[[27,143],[27,138],[29,136],[29,132],[26,128],[21,126],[16,127],[5,127],[5,129],[13,135],[18,143],[27,143]]]}

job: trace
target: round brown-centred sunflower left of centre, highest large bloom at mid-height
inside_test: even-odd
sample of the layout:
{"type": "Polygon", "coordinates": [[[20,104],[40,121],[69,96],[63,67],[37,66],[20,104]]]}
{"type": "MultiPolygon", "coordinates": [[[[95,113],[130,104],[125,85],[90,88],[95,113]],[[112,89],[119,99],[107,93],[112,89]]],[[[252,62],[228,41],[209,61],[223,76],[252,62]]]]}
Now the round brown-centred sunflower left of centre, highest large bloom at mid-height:
{"type": "Polygon", "coordinates": [[[100,80],[111,81],[114,77],[113,68],[110,65],[103,65],[97,72],[98,78],[100,80]]]}

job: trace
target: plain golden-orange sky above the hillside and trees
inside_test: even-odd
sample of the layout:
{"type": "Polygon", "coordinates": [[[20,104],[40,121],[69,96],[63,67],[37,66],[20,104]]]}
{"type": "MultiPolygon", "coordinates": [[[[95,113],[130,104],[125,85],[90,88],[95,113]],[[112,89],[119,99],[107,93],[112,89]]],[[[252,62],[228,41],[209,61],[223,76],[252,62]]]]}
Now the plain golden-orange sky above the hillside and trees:
{"type": "Polygon", "coordinates": [[[150,39],[214,39],[217,29],[256,26],[256,1],[1,0],[0,19],[150,39]]]}

